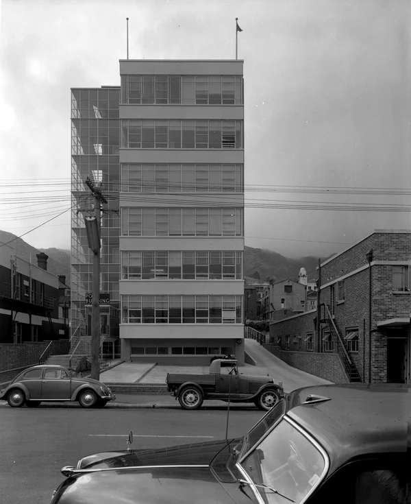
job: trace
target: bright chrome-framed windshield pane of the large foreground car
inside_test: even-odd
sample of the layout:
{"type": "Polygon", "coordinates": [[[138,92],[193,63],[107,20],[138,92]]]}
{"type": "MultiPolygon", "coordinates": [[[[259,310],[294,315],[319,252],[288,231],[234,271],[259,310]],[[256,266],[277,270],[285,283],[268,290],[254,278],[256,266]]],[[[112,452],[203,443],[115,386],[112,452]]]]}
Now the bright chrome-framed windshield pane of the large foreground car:
{"type": "Polygon", "coordinates": [[[323,476],[325,458],[319,448],[284,419],[241,466],[253,483],[271,487],[258,488],[265,503],[285,504],[292,500],[299,504],[323,476]]]}

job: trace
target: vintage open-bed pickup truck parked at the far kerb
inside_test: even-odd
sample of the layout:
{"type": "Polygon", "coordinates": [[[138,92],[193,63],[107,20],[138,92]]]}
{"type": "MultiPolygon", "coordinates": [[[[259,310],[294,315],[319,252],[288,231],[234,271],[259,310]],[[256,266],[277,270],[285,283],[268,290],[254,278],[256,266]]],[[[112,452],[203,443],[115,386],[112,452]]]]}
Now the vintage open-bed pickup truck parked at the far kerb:
{"type": "Polygon", "coordinates": [[[221,399],[269,410],[284,397],[282,386],[269,376],[238,373],[236,359],[215,359],[208,374],[168,373],[166,384],[184,409],[198,409],[205,399],[221,399]]]}

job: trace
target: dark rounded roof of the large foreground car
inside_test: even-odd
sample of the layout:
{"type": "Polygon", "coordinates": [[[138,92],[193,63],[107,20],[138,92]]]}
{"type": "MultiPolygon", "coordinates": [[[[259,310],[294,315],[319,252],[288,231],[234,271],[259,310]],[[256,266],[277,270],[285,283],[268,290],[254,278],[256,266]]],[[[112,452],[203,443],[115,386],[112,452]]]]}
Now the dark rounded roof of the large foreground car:
{"type": "Polygon", "coordinates": [[[288,416],[319,441],[334,466],[364,455],[411,453],[410,385],[304,387],[287,402],[288,416]],[[303,404],[310,395],[324,400],[303,404]]]}

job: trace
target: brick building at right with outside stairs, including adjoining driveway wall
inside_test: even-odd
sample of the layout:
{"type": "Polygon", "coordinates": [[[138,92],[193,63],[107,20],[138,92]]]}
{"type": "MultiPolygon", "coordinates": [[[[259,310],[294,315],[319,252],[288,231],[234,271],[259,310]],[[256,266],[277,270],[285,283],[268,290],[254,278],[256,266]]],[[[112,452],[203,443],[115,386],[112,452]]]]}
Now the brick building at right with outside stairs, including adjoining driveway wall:
{"type": "Polygon", "coordinates": [[[332,381],[411,383],[411,230],[375,230],[319,268],[316,310],[270,324],[273,352],[332,381]]]}

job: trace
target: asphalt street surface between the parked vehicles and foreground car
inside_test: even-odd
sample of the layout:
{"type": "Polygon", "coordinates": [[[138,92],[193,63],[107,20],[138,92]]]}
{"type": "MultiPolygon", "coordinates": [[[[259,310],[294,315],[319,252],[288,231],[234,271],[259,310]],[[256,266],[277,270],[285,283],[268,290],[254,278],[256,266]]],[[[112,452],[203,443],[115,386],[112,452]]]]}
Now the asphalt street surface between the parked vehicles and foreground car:
{"type": "MultiPolygon", "coordinates": [[[[229,437],[244,434],[264,412],[229,412],[229,437]]],[[[100,451],[162,448],[225,437],[221,409],[0,408],[0,503],[48,504],[63,466],[100,451]]]]}

